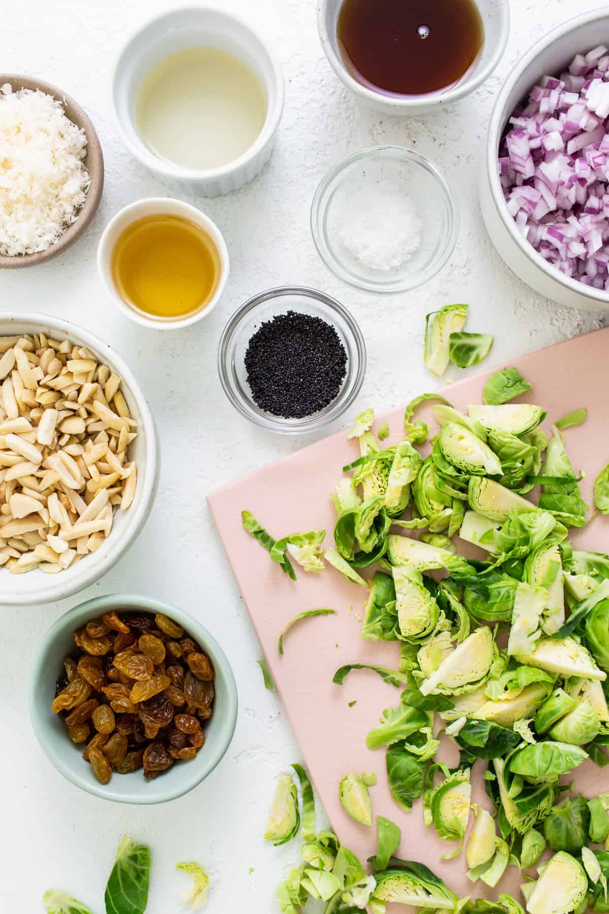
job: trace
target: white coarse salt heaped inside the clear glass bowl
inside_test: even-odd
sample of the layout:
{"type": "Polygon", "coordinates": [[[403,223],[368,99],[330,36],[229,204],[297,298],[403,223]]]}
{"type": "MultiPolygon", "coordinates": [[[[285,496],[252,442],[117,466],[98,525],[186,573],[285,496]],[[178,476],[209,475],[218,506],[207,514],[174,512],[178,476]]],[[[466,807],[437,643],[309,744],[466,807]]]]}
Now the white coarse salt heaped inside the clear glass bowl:
{"type": "Polygon", "coordinates": [[[404,190],[387,178],[350,197],[339,238],[365,267],[390,271],[421,247],[423,223],[404,190]]]}

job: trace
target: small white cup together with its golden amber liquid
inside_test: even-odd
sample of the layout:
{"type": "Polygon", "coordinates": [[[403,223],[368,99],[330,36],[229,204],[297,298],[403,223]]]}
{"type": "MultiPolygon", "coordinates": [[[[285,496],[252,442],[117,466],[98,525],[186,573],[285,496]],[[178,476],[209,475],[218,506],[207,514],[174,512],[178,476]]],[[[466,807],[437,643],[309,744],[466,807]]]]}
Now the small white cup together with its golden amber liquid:
{"type": "Polygon", "coordinates": [[[156,330],[175,330],[210,314],[228,278],[219,228],[196,207],[149,197],[121,209],[98,248],[100,280],[121,312],[156,330]]]}

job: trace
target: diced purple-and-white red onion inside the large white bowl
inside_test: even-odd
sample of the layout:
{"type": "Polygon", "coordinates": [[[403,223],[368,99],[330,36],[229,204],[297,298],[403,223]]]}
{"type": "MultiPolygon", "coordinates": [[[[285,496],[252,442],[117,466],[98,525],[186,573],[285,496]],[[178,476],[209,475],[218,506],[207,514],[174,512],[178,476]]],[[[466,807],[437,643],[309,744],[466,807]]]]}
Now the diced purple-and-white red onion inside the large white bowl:
{"type": "Polygon", "coordinates": [[[517,228],[565,275],[609,292],[609,49],[544,76],[509,125],[498,173],[517,228]]]}

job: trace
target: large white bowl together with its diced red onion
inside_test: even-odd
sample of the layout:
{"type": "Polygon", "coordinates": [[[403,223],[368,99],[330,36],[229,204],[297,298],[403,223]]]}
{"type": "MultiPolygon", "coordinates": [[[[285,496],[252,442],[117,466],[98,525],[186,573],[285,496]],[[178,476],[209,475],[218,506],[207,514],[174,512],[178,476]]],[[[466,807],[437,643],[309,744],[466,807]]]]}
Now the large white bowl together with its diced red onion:
{"type": "Polygon", "coordinates": [[[555,28],[511,72],[480,207],[520,279],[561,304],[609,309],[609,7],[555,28]]]}

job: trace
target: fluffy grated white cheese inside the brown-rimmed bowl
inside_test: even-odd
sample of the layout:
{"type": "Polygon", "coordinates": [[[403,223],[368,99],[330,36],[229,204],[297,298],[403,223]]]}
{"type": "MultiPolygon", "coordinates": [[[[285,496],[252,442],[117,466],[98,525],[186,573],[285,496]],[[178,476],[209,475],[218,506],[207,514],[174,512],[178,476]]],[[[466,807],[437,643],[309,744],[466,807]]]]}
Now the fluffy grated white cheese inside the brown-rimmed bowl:
{"type": "Polygon", "coordinates": [[[86,147],[60,101],[0,87],[0,254],[47,250],[76,222],[90,184],[86,147]]]}

